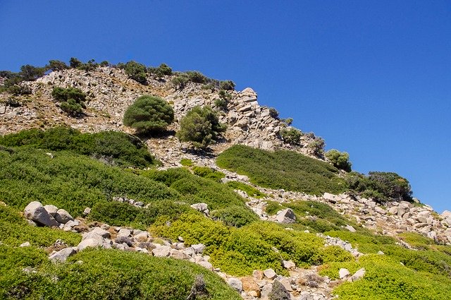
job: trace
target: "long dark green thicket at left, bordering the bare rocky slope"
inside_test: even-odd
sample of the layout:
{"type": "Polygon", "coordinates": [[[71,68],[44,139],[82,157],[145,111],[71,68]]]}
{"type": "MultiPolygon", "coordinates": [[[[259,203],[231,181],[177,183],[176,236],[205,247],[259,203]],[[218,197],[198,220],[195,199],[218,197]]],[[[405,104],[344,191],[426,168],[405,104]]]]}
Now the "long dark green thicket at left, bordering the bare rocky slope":
{"type": "Polygon", "coordinates": [[[117,131],[80,133],[68,127],[54,127],[47,131],[30,129],[0,137],[0,145],[69,150],[122,167],[150,167],[155,164],[141,140],[117,131]]]}

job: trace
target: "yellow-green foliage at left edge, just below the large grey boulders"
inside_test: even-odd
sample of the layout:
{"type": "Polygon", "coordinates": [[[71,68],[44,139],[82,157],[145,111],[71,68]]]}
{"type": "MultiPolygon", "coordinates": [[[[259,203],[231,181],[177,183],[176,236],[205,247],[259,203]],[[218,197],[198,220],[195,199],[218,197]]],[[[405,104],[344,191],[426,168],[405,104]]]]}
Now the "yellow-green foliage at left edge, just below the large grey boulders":
{"type": "Polygon", "coordinates": [[[18,210],[0,205],[0,242],[11,246],[19,246],[29,241],[34,246],[51,246],[57,239],[68,245],[80,243],[80,234],[63,232],[49,227],[32,227],[19,215],[18,210]]]}

